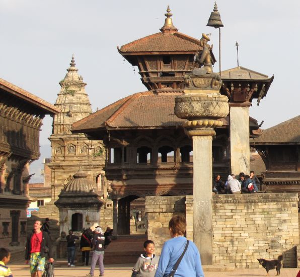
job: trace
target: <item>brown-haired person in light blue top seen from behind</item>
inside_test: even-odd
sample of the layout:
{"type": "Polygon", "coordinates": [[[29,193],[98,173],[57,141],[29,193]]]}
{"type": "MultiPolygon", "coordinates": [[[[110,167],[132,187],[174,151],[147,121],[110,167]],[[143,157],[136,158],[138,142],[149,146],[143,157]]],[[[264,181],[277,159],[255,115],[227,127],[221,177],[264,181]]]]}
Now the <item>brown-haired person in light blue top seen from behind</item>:
{"type": "MultiPolygon", "coordinates": [[[[186,230],[184,216],[174,216],[169,222],[169,230],[172,238],[164,244],[155,277],[165,277],[171,273],[187,243],[187,239],[183,236],[186,230]]],[[[204,277],[199,250],[192,241],[189,242],[174,276],[204,277]]]]}

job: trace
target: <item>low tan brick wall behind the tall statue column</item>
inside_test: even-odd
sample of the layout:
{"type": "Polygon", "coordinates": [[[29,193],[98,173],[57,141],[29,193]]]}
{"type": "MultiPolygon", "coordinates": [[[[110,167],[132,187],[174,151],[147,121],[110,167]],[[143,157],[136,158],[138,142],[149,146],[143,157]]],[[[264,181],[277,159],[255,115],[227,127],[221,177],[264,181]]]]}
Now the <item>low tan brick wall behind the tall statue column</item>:
{"type": "MultiPolygon", "coordinates": [[[[148,196],[148,238],[156,252],[170,239],[168,223],[177,213],[187,218],[193,239],[193,196],[148,196]]],[[[298,195],[296,193],[213,195],[213,262],[255,268],[257,258],[283,255],[284,267],[297,266],[298,195]]]]}

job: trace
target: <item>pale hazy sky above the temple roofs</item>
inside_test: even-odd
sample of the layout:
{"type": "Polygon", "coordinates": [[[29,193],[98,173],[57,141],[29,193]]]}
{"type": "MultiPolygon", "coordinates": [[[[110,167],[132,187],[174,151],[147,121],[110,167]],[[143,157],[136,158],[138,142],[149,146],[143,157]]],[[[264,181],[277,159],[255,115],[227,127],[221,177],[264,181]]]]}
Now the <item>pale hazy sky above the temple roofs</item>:
{"type": "MultiPolygon", "coordinates": [[[[218,57],[218,30],[207,27],[214,1],[0,0],[0,78],[54,104],[74,53],[93,111],[145,91],[140,75],[117,46],[160,32],[167,6],[178,31],[194,38],[211,33],[218,57]]],[[[269,128],[299,115],[300,1],[219,0],[221,70],[239,65],[275,76],[250,115],[269,128]]],[[[218,62],[214,72],[218,72],[218,62]]],[[[49,145],[52,118],[43,120],[40,145],[49,145]]]]}

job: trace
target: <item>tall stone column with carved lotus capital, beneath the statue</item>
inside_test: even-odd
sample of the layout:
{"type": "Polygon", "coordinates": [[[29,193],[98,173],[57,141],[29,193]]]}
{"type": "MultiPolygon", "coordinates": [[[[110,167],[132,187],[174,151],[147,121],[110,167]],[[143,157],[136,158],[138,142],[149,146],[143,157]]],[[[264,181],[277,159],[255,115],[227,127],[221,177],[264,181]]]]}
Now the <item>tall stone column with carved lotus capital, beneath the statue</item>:
{"type": "Polygon", "coordinates": [[[229,113],[228,98],[219,94],[218,75],[185,76],[185,95],[175,99],[175,114],[193,141],[193,233],[203,265],[212,264],[212,136],[218,118],[229,113]]]}

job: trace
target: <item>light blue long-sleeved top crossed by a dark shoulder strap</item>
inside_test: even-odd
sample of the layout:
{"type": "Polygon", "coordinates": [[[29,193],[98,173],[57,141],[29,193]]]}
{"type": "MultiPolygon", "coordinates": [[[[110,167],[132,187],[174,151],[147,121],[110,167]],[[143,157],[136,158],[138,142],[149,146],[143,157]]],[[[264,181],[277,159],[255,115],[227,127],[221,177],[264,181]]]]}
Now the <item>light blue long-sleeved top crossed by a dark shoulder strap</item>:
{"type": "MultiPolygon", "coordinates": [[[[165,277],[182,254],[186,244],[185,237],[175,237],[165,242],[155,277],[165,277]]],[[[198,248],[190,241],[189,246],[177,268],[175,277],[204,277],[198,248]]]]}

